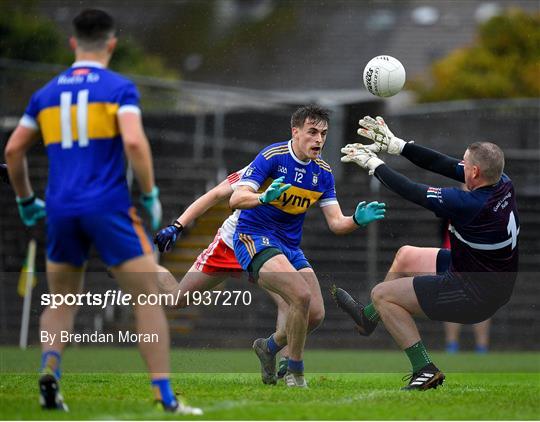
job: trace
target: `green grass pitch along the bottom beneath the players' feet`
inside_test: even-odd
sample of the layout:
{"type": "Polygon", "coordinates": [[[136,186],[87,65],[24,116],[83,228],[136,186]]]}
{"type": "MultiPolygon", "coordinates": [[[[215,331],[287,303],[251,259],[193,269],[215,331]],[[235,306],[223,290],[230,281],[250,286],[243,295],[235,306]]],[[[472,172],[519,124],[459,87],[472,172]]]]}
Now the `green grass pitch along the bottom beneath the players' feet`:
{"type": "MultiPolygon", "coordinates": [[[[308,351],[310,388],[290,390],[262,385],[250,351],[175,350],[172,379],[205,420],[538,419],[538,354],[432,357],[447,380],[426,392],[399,391],[408,370],[399,352],[308,351]]],[[[147,375],[129,348],[70,349],[62,389],[71,411],[42,412],[38,359],[36,349],[0,349],[1,419],[179,419],[153,410],[147,375]]]]}

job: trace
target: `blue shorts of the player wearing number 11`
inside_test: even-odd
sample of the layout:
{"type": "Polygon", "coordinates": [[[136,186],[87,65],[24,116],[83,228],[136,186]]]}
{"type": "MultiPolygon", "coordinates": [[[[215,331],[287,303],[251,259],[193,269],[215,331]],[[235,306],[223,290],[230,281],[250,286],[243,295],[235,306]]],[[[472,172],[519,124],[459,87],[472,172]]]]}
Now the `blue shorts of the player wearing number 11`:
{"type": "Polygon", "coordinates": [[[81,267],[94,245],[109,267],[152,253],[135,207],[124,211],[76,216],[47,216],[47,258],[81,267]]]}

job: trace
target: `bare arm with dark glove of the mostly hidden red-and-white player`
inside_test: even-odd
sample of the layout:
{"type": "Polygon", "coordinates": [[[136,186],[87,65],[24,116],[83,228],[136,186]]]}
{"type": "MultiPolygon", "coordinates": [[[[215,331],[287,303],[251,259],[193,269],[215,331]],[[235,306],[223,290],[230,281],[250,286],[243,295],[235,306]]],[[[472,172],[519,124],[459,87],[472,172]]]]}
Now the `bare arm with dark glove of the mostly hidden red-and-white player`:
{"type": "Polygon", "coordinates": [[[232,193],[233,189],[230,182],[224,180],[195,200],[172,224],[163,227],[155,234],[154,243],[157,245],[159,251],[169,252],[172,250],[185,226],[191,224],[191,222],[208,211],[209,208],[228,199],[232,193]]]}

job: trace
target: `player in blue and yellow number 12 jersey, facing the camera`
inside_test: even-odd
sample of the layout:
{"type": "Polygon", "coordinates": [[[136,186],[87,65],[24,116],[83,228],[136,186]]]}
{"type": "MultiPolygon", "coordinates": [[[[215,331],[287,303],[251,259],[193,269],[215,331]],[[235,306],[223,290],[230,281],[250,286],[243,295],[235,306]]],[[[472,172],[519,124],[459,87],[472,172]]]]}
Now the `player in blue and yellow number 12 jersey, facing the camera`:
{"type": "MultiPolygon", "coordinates": [[[[290,387],[305,387],[304,342],[308,327],[324,318],[319,282],[300,249],[307,210],[319,202],[331,231],[346,234],[384,218],[384,204],[358,204],[346,217],[336,199],[330,166],[320,158],[328,132],[328,112],[303,106],[291,118],[292,139],[263,149],[244,173],[230,199],[241,209],[234,252],[244,270],[289,305],[285,329],[253,344],[265,384],[276,383],[276,353],[289,347],[290,387]]],[[[312,328],[313,329],[313,328],[312,328]]]]}

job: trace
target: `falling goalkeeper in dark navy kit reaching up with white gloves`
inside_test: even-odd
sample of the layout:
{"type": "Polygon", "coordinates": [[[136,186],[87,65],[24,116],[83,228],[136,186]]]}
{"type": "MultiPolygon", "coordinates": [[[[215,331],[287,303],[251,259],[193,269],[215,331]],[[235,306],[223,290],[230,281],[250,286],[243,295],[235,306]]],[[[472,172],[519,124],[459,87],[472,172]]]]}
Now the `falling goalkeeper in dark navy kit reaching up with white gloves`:
{"type": "Polygon", "coordinates": [[[508,302],[518,271],[514,187],[503,173],[504,154],[493,143],[469,145],[460,161],[399,139],[381,117],[364,117],[360,126],[358,133],[374,143],[347,145],[342,161],[358,164],[388,189],[449,219],[451,250],[404,246],[384,282],[373,288],[372,303],[364,307],[342,289],[335,289],[334,297],[362,335],[370,335],[383,321],[411,361],[412,375],[404,389],[436,388],[444,374],[431,362],[412,317],[473,324],[508,302]],[[380,160],[378,152],[402,155],[465,183],[467,191],[414,183],[380,160]]]}

